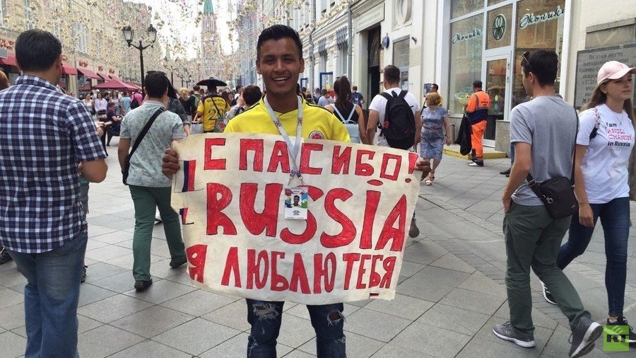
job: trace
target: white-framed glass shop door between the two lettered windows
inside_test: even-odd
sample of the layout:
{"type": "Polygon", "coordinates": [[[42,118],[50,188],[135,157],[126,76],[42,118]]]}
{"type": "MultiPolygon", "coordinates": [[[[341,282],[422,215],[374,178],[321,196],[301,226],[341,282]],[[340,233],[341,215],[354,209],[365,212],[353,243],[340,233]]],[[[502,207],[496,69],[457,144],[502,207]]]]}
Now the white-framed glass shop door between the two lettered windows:
{"type": "Polygon", "coordinates": [[[497,121],[507,118],[507,113],[510,112],[510,101],[507,100],[510,93],[510,54],[485,57],[483,67],[483,91],[490,96],[488,124],[483,134],[483,144],[495,146],[497,121]]]}

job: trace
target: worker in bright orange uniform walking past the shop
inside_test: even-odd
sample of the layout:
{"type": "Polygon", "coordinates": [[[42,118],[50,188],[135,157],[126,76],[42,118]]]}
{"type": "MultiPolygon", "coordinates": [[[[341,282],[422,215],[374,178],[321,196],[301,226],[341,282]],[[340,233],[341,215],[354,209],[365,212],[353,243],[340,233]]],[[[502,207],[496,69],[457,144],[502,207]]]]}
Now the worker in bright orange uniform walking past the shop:
{"type": "Polygon", "coordinates": [[[490,96],[481,89],[481,81],[473,82],[473,94],[466,105],[466,117],[471,125],[471,153],[470,166],[483,166],[483,132],[488,123],[488,108],[490,96]]]}

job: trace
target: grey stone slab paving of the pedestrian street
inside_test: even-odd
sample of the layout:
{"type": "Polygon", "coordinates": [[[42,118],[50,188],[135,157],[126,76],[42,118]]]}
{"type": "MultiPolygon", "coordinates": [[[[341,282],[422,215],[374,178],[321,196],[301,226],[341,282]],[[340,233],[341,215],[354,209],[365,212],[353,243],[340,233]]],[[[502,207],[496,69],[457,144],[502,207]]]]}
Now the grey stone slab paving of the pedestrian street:
{"type": "MultiPolygon", "coordinates": [[[[107,179],[90,185],[88,279],[78,309],[81,357],[245,357],[245,301],[196,289],[184,269],[170,269],[161,225],[153,234],[154,284],[141,294],[132,289],[133,204],[121,183],[117,147],[109,153],[107,179]]],[[[492,333],[508,316],[500,203],[506,178],[498,173],[508,164],[495,159],[473,168],[444,156],[435,184],[421,187],[421,233],[408,241],[396,299],[345,304],[349,357],[567,357],[567,321],[543,301],[536,277],[537,347],[526,350],[492,333]]],[[[636,203],[631,209],[635,221],[636,203]]],[[[636,322],[635,238],[632,229],[625,316],[636,322]]],[[[599,229],[587,253],[566,269],[596,321],[604,321],[607,311],[604,262],[599,229]]],[[[1,357],[24,352],[24,283],[13,262],[0,266],[1,357]]],[[[281,357],[314,356],[304,306],[285,304],[278,342],[281,357]]],[[[605,356],[599,340],[589,357],[605,356]]]]}

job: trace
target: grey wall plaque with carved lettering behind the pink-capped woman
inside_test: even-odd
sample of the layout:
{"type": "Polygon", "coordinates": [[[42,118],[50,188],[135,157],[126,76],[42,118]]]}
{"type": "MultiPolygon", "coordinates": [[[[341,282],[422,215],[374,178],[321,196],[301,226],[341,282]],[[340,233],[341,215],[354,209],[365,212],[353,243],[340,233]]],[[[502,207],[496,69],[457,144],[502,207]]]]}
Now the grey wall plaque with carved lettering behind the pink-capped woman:
{"type": "MultiPolygon", "coordinates": [[[[577,79],[575,83],[575,107],[580,108],[589,101],[596,88],[596,75],[605,62],[618,61],[635,66],[636,44],[583,50],[577,53],[577,79]]],[[[634,101],[632,101],[634,102],[634,101]]]]}

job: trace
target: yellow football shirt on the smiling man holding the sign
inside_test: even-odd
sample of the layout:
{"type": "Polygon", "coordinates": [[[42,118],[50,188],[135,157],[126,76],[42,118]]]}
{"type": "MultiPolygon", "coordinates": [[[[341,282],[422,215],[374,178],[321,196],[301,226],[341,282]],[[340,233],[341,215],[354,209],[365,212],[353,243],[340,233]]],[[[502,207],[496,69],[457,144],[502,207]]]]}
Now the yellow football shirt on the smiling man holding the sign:
{"type": "MultiPolygon", "coordinates": [[[[296,135],[298,110],[287,113],[276,112],[285,131],[290,137],[296,135]]],[[[232,118],[225,127],[226,133],[280,134],[273,124],[265,103],[259,103],[232,118]]],[[[302,137],[305,139],[329,139],[337,142],[351,142],[347,128],[329,110],[310,105],[302,100],[302,137]]]]}

